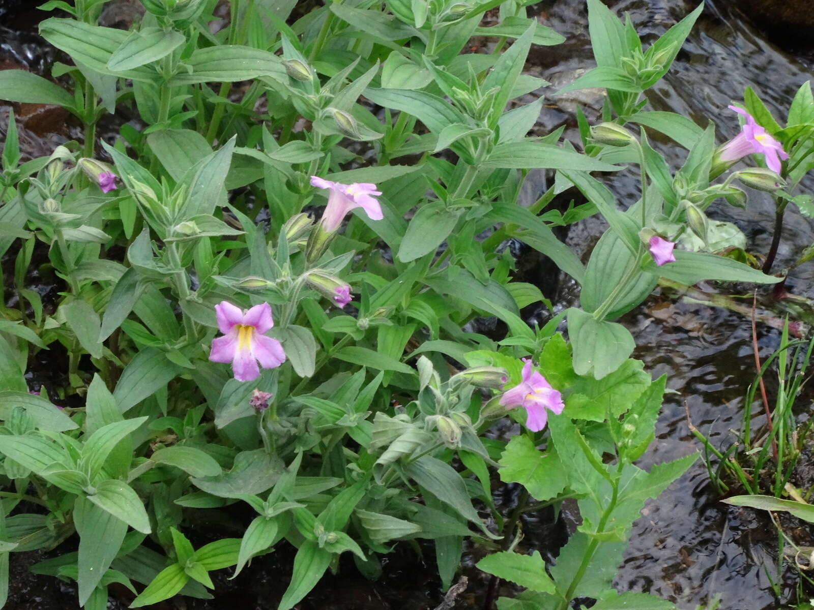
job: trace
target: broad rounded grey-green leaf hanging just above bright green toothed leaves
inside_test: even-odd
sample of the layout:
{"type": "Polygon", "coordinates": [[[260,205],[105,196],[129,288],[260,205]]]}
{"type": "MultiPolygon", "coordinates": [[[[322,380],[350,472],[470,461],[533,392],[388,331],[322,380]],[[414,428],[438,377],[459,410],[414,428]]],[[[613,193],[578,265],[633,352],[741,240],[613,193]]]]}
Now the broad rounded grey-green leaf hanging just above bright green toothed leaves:
{"type": "Polygon", "coordinates": [[[597,320],[576,308],[567,317],[577,375],[593,373],[595,379],[602,379],[619,368],[636,346],[630,331],[616,322],[597,320]]]}

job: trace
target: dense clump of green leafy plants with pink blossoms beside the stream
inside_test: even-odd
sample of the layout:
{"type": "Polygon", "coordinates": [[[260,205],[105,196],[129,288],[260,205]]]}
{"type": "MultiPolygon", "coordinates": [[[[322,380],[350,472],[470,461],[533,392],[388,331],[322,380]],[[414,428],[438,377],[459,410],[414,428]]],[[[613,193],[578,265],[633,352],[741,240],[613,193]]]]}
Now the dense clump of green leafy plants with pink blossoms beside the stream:
{"type": "Polygon", "coordinates": [[[466,539],[495,551],[479,568],[527,588],[501,610],[672,608],[611,587],[644,502],[696,459],[634,464],[665,379],[630,358],[614,320],[659,277],[779,281],[705,210],[746,205],[738,181],[812,206],[793,191],[812,168],[811,89],[786,128],[747,91],[742,133],[716,148],[713,124],[643,95],[702,7],[645,50],[589,0],[597,68],[562,91],[607,97],[593,129],[580,111],[578,151],[562,129],[527,137],[542,98],[512,103],[546,85],[523,74],[529,49],[563,41],[525,2],[346,0],[294,17],[289,0],[232,0],[215,33],[214,0],[142,0],[131,32],[97,25],[103,3],[42,7],[72,15],[41,25],[72,59],[53,69],[71,91],[0,72],[0,97],[85,126],[84,145],[20,164],[12,120],[2,152],[0,252],[15,253],[0,309],[2,599],[10,556],[59,553],[76,533],[77,551],[34,569],[76,580],[94,610],[112,582],[146,586],[133,608],[208,597],[209,572],[283,541],[297,549],[287,610],[343,553],[375,577],[419,538],[444,588],[466,539]],[[486,11],[499,24],[481,27],[486,11]],[[463,52],[475,35],[495,52],[463,52]],[[140,120],[97,142],[100,117],[124,107],[140,120]],[[647,133],[688,149],[683,167],[647,133]],[[768,168],[729,171],[748,155],[768,168]],[[532,168],[554,185],[520,207],[532,168]],[[641,176],[635,203],[592,176],[623,171],[641,176]],[[551,206],[572,187],[584,203],[551,206]],[[595,214],[609,229],[583,264],[552,229],[595,214]],[[520,310],[546,299],[514,281],[509,240],[571,276],[580,307],[527,325],[520,310]],[[64,281],[55,307],[26,287],[37,252],[64,281]],[[481,332],[484,317],[501,324],[481,332]],[[28,386],[39,351],[67,352],[66,386],[28,386]],[[487,435],[502,416],[519,426],[487,435]],[[556,564],[516,548],[496,470],[523,503],[577,499],[556,564]],[[256,512],[245,531],[195,548],[190,515],[235,503],[256,512]]]}

